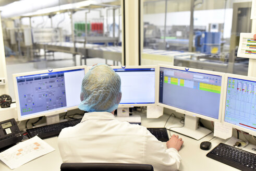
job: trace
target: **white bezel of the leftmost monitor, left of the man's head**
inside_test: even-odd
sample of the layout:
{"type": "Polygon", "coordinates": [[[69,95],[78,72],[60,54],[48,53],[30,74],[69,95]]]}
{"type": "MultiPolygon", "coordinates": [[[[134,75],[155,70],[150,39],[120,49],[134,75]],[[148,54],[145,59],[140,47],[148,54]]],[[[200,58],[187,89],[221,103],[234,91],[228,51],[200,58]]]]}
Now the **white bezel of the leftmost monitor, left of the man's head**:
{"type": "Polygon", "coordinates": [[[36,74],[44,74],[44,73],[50,73],[50,72],[58,72],[58,71],[76,70],[76,69],[84,69],[84,75],[85,75],[85,74],[86,74],[86,71],[87,71],[87,66],[86,66],[86,65],[83,65],[83,66],[74,66],[74,67],[47,69],[47,70],[31,71],[31,72],[21,72],[21,73],[18,73],[18,74],[13,74],[14,93],[15,93],[15,99],[16,99],[17,118],[18,118],[18,120],[21,121],[21,120],[27,120],[27,119],[37,118],[37,117],[40,117],[40,116],[51,116],[51,115],[56,115],[56,114],[59,114],[59,113],[64,113],[64,112],[67,112],[68,110],[78,108],[78,105],[76,105],[76,106],[71,106],[71,107],[57,108],[57,109],[54,109],[53,111],[43,112],[43,113],[39,113],[39,114],[36,114],[36,113],[35,113],[34,115],[21,117],[20,103],[19,103],[19,93],[18,93],[18,85],[17,85],[16,77],[30,76],[30,75],[36,75],[36,74]]]}

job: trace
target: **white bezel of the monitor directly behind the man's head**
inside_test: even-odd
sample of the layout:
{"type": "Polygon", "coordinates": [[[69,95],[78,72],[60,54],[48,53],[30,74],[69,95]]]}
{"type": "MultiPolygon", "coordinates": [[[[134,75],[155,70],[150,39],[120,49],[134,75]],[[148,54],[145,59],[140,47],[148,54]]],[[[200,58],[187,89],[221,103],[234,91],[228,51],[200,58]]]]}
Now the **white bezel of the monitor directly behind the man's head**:
{"type": "Polygon", "coordinates": [[[157,66],[156,65],[131,65],[131,66],[111,66],[113,69],[124,69],[124,68],[154,68],[155,69],[155,102],[154,103],[139,103],[139,104],[119,104],[118,107],[140,107],[140,106],[149,106],[156,104],[156,74],[157,66]]]}

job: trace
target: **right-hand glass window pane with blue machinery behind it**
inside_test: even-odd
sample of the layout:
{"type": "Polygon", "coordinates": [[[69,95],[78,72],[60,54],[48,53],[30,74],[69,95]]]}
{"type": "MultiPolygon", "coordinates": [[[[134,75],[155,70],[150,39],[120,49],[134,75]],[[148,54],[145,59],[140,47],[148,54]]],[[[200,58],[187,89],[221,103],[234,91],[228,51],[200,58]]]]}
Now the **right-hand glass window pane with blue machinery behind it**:
{"type": "Polygon", "coordinates": [[[150,49],[177,66],[247,75],[248,59],[237,50],[240,33],[251,32],[251,1],[144,0],[142,6],[142,61],[150,49]]]}

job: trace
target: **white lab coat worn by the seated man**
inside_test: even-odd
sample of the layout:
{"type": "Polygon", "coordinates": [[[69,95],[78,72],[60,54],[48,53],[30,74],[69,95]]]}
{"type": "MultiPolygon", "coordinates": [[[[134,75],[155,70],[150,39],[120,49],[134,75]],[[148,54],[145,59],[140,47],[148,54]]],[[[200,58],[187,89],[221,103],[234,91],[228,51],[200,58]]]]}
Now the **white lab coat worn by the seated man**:
{"type": "Polygon", "coordinates": [[[108,112],[84,114],[81,123],[60,132],[58,147],[64,163],[140,163],[170,171],[181,161],[176,149],[166,150],[147,128],[108,112]]]}

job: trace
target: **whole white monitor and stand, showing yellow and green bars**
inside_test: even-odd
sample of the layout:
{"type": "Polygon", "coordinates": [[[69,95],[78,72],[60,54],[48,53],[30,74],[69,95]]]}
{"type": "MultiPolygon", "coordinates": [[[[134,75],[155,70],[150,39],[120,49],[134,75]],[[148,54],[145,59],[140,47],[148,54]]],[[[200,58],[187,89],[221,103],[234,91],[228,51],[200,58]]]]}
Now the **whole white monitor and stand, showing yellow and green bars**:
{"type": "Polygon", "coordinates": [[[224,73],[177,66],[159,66],[157,104],[185,114],[185,125],[173,131],[201,139],[211,131],[198,126],[198,117],[221,121],[224,73]]]}

